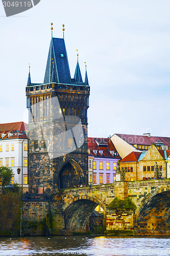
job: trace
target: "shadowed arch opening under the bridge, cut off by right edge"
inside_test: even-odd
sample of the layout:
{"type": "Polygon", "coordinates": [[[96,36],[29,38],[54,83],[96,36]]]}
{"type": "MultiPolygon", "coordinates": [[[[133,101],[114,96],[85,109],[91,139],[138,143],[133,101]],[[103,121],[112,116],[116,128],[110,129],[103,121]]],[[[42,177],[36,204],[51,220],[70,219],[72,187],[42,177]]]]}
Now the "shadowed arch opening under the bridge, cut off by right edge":
{"type": "Polygon", "coordinates": [[[170,235],[170,191],[163,191],[141,205],[135,221],[138,234],[170,235]]]}

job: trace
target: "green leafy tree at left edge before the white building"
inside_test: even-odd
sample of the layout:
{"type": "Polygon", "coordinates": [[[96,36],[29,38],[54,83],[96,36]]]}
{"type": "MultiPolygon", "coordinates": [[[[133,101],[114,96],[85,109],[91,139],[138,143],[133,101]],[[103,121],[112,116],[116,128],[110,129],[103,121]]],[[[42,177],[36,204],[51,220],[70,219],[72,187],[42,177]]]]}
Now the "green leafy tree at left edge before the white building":
{"type": "Polygon", "coordinates": [[[5,186],[11,184],[11,179],[13,176],[12,168],[2,166],[0,167],[0,193],[2,192],[5,186]]]}

